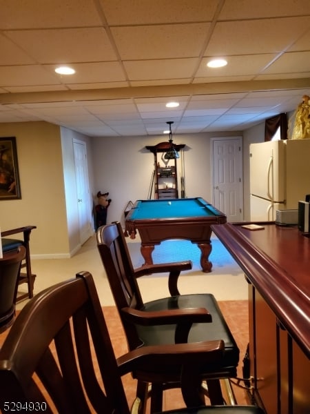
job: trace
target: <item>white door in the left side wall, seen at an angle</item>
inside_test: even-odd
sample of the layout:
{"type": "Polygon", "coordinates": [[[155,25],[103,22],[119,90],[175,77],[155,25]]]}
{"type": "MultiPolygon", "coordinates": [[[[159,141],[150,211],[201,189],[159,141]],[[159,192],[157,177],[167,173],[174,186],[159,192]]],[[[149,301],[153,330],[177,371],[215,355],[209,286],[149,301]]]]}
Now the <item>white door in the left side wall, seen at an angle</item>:
{"type": "Polygon", "coordinates": [[[92,215],[90,211],[90,187],[88,182],[87,152],[86,144],[83,141],[74,140],[73,147],[80,242],[83,244],[92,235],[92,215]]]}

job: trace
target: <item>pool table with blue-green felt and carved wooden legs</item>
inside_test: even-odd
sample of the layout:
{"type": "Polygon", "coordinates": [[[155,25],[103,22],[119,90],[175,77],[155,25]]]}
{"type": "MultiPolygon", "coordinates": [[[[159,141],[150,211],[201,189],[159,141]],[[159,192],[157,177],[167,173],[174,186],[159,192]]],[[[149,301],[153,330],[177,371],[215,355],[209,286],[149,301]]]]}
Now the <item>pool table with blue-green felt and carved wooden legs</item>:
{"type": "Polygon", "coordinates": [[[226,223],[225,214],[200,197],[137,200],[125,217],[125,230],[132,239],[138,230],[145,264],[153,263],[156,244],[167,239],[187,239],[200,248],[203,272],[211,272],[211,225],[223,223],[226,223]]]}

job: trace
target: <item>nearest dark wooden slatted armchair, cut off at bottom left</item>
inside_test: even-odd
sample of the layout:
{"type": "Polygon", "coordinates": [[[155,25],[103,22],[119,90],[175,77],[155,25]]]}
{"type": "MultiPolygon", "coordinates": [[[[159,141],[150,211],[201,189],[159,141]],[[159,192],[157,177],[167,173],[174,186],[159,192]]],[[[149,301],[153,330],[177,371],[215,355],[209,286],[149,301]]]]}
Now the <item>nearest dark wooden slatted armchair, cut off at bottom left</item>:
{"type": "MultiPolygon", "coordinates": [[[[201,361],[217,361],[222,354],[223,342],[217,341],[144,347],[116,359],[92,275],[81,272],[36,295],[14,322],[0,349],[0,410],[139,414],[138,400],[128,407],[121,375],[156,371],[172,360],[182,361],[184,375],[191,377],[201,361]]],[[[197,401],[196,380],[183,383],[185,395],[194,384],[187,398],[197,401]]],[[[223,408],[178,413],[261,414],[254,407],[223,408]]]]}

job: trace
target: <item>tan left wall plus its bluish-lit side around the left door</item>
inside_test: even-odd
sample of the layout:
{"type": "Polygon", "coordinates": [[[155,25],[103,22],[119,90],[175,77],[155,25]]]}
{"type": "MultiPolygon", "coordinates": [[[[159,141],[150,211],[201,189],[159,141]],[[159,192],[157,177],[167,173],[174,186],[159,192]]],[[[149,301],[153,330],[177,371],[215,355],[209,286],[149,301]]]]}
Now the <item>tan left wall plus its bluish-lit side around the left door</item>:
{"type": "MultiPolygon", "coordinates": [[[[71,257],[81,247],[73,140],[86,142],[89,157],[90,138],[43,121],[0,124],[0,136],[17,139],[21,182],[21,199],[0,201],[0,228],[37,226],[31,235],[32,257],[71,257]]],[[[91,210],[92,160],[87,161],[91,210]]]]}

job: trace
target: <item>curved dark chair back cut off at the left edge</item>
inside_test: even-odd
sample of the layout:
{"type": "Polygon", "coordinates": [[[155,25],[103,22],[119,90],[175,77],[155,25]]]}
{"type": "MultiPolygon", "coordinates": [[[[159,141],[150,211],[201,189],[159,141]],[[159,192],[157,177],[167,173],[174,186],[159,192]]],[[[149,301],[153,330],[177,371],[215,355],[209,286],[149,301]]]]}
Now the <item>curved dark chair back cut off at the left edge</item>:
{"type": "Polygon", "coordinates": [[[6,331],[15,317],[15,304],[21,262],[25,258],[25,247],[3,253],[0,259],[0,332],[6,331]]]}

